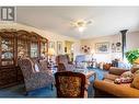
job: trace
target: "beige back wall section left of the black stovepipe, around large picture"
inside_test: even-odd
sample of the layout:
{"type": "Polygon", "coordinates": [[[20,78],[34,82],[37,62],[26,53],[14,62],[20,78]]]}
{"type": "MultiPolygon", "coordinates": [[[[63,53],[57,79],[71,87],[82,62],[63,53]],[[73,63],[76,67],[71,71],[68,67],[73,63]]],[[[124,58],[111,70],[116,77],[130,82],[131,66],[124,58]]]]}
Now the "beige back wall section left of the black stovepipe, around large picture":
{"type": "Polygon", "coordinates": [[[97,37],[97,38],[92,38],[92,39],[82,39],[81,45],[82,46],[86,45],[86,46],[91,47],[90,54],[91,54],[91,51],[93,51],[94,57],[96,58],[96,60],[99,62],[100,61],[111,62],[112,59],[114,59],[116,57],[121,57],[120,53],[112,53],[112,49],[111,49],[112,43],[117,43],[117,42],[120,42],[120,36],[119,35],[111,35],[111,36],[97,37]],[[96,43],[104,43],[104,42],[109,43],[109,53],[97,54],[95,51],[95,44],[96,43]]]}

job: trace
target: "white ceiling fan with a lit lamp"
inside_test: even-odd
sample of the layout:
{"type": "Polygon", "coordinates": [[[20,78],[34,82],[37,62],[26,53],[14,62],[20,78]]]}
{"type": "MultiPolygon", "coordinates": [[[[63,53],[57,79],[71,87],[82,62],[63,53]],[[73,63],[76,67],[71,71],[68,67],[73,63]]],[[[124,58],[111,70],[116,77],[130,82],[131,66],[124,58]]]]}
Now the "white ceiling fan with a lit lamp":
{"type": "Polygon", "coordinates": [[[77,27],[78,31],[82,33],[86,28],[86,25],[91,23],[92,21],[77,20],[77,21],[71,22],[71,25],[73,27],[77,27]]]}

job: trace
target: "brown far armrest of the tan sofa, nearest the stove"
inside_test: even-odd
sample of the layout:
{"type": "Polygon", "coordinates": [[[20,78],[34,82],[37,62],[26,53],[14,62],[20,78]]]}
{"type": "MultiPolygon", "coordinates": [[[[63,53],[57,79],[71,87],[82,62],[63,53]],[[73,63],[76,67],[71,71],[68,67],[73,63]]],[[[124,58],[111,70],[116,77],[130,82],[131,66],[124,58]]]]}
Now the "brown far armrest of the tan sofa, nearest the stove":
{"type": "Polygon", "coordinates": [[[120,76],[123,72],[128,71],[127,69],[124,68],[117,68],[117,67],[111,67],[109,73],[120,76]]]}

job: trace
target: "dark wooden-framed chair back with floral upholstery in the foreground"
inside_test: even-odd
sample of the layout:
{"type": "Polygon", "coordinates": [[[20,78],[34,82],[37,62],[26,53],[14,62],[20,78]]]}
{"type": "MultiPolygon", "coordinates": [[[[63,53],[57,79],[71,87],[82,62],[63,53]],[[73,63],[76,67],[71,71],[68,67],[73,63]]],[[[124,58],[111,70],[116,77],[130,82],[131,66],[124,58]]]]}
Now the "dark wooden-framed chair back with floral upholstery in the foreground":
{"type": "Polygon", "coordinates": [[[55,73],[58,97],[84,97],[85,76],[79,72],[63,71],[55,73]]]}

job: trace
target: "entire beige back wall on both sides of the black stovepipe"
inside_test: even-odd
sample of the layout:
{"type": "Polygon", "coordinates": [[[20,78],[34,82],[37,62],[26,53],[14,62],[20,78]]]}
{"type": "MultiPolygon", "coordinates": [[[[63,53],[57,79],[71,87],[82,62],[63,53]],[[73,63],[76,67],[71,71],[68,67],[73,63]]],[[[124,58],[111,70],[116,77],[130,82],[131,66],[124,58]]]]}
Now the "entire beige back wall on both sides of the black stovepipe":
{"type": "MultiPolygon", "coordinates": [[[[139,38],[139,32],[127,33],[127,50],[139,48],[138,38],[139,38]]],[[[91,39],[82,39],[81,46],[86,45],[91,47],[90,51],[94,51],[94,57],[96,58],[99,62],[100,61],[111,62],[115,58],[121,59],[121,53],[112,53],[112,43],[117,43],[117,42],[121,42],[120,33],[116,35],[111,35],[111,36],[104,36],[104,37],[97,37],[97,38],[91,38],[91,39]],[[103,42],[109,43],[109,53],[108,54],[95,53],[95,44],[103,43],[103,42]]]]}

